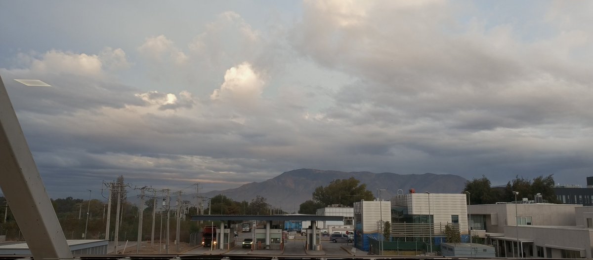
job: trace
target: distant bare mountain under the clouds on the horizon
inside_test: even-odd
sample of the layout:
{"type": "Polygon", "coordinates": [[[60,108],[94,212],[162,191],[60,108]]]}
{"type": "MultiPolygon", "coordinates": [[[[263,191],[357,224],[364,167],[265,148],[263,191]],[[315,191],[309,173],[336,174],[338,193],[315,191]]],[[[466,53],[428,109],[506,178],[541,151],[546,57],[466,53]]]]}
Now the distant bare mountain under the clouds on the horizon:
{"type": "Polygon", "coordinates": [[[366,184],[368,190],[375,193],[378,188],[387,188],[382,192],[382,197],[388,198],[401,189],[408,193],[410,188],[416,192],[429,191],[431,193],[459,193],[466,184],[466,179],[452,174],[393,174],[383,172],[340,172],[323,171],[317,169],[297,169],[283,172],[282,174],[263,182],[251,182],[241,187],[211,191],[200,195],[213,197],[221,192],[231,192],[225,196],[235,201],[251,201],[260,195],[267,199],[267,203],[274,207],[281,207],[291,213],[298,211],[298,207],[306,200],[311,200],[311,194],[319,186],[327,186],[334,179],[347,179],[354,177],[366,184]]]}

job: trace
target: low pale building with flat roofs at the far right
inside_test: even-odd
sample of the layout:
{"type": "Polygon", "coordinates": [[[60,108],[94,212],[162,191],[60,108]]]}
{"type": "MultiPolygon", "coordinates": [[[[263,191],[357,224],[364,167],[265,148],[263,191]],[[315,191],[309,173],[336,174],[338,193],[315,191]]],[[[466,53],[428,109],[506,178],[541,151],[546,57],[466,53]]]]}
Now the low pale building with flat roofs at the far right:
{"type": "Polygon", "coordinates": [[[487,243],[495,246],[497,256],[592,257],[593,207],[540,203],[472,205],[468,209],[474,230],[486,230],[487,243]]]}

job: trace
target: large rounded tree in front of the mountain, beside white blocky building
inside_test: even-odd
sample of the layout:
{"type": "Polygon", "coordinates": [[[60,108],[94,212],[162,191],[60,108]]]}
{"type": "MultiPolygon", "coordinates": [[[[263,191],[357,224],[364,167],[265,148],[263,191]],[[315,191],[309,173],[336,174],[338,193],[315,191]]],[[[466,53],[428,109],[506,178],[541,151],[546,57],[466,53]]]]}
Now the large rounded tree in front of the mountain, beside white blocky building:
{"type": "Polygon", "coordinates": [[[326,187],[320,186],[313,192],[313,201],[323,204],[342,204],[352,207],[356,201],[374,200],[371,191],[366,190],[366,184],[354,177],[349,179],[335,179],[326,187]]]}

